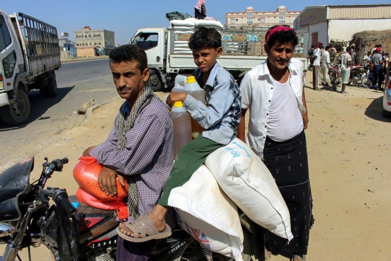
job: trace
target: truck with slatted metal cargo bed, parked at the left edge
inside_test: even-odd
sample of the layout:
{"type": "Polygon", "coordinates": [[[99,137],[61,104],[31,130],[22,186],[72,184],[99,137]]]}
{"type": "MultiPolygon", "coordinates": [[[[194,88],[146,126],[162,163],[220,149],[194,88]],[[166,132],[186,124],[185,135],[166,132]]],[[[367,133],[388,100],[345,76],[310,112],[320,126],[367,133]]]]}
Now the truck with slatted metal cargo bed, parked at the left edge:
{"type": "Polygon", "coordinates": [[[57,96],[61,66],[57,29],[31,16],[0,10],[0,117],[8,125],[29,120],[27,92],[57,96]]]}

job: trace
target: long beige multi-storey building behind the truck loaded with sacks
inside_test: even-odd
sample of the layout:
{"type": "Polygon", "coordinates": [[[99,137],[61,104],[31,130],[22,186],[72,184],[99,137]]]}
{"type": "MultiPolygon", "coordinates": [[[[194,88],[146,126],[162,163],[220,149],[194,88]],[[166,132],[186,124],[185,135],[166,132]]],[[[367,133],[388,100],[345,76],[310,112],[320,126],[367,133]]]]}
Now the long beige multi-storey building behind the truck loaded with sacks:
{"type": "Polygon", "coordinates": [[[299,11],[288,11],[285,6],[277,7],[276,11],[256,12],[253,7],[247,7],[245,12],[226,13],[227,28],[240,27],[272,27],[276,24],[287,24],[293,27],[293,21],[300,15],[299,11]]]}

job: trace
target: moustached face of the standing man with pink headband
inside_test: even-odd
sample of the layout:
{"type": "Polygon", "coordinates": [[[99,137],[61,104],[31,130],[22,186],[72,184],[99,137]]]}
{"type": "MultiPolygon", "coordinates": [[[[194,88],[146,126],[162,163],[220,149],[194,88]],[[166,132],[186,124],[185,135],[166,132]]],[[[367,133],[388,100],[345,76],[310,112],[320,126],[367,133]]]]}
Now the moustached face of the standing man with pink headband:
{"type": "Polygon", "coordinates": [[[280,43],[276,41],[273,46],[265,44],[265,51],[269,60],[269,64],[278,70],[285,69],[293,55],[292,42],[280,43]]]}

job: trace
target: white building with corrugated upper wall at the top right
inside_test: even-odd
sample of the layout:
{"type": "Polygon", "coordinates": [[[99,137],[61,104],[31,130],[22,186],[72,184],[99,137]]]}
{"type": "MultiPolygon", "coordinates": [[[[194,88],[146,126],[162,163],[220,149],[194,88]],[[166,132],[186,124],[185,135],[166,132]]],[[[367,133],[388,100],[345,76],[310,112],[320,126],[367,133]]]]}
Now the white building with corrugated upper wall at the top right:
{"type": "Polygon", "coordinates": [[[315,45],[318,41],[324,45],[330,42],[344,42],[346,47],[355,33],[389,30],[391,4],[309,6],[297,16],[293,27],[309,30],[309,45],[315,45]]]}

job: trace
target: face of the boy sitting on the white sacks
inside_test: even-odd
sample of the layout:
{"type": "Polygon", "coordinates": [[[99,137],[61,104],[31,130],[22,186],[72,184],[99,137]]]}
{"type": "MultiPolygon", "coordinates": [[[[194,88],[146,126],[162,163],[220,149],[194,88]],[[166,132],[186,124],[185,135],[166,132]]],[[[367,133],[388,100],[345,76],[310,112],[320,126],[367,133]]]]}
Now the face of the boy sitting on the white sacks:
{"type": "Polygon", "coordinates": [[[201,69],[202,72],[210,71],[214,64],[216,63],[217,57],[220,57],[222,53],[222,48],[203,48],[203,49],[194,49],[193,58],[195,65],[201,69]]]}

